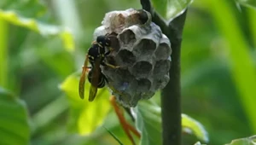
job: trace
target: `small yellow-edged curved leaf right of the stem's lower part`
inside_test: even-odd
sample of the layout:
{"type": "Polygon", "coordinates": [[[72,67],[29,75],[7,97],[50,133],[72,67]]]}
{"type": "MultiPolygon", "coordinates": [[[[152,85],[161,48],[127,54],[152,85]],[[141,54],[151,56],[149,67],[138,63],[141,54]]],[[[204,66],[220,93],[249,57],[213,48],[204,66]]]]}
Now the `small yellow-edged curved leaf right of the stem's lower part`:
{"type": "Polygon", "coordinates": [[[196,121],[195,119],[190,118],[186,114],[182,114],[182,125],[183,125],[183,132],[193,134],[197,136],[198,139],[204,142],[208,142],[208,135],[207,131],[201,125],[200,122],[196,121]]]}

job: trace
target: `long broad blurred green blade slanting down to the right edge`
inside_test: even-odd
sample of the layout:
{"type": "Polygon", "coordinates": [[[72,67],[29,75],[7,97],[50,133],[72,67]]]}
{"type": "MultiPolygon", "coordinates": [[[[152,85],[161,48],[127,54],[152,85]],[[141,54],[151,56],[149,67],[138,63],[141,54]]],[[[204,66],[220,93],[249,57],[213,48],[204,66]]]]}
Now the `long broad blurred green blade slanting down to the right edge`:
{"type": "Polygon", "coordinates": [[[225,49],[229,52],[229,55],[226,55],[226,57],[230,61],[232,77],[240,93],[240,100],[252,125],[252,130],[256,132],[256,113],[254,113],[256,72],[247,40],[241,32],[239,23],[229,3],[226,1],[217,2],[216,0],[204,2],[211,5],[209,12],[212,13],[220,29],[219,31],[224,34],[224,39],[227,41],[225,49]],[[222,10],[219,11],[218,9],[222,10]]]}

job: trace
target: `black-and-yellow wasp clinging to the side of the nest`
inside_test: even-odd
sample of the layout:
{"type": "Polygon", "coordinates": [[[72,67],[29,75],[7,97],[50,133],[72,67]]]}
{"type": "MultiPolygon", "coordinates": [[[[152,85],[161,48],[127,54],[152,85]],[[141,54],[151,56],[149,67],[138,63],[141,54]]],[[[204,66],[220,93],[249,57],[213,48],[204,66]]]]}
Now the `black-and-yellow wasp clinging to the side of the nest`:
{"type": "Polygon", "coordinates": [[[79,96],[84,99],[84,83],[86,79],[86,72],[88,68],[91,68],[88,79],[90,81],[90,93],[89,93],[89,101],[92,102],[97,93],[98,88],[102,88],[105,85],[105,81],[107,78],[102,73],[101,65],[102,66],[108,66],[112,68],[118,68],[116,66],[113,66],[109,64],[107,61],[105,61],[105,56],[109,55],[110,52],[113,50],[111,47],[111,40],[108,37],[108,34],[106,36],[99,36],[96,38],[96,41],[94,41],[90,49],[88,49],[88,53],[85,57],[84,66],[82,75],[80,77],[79,81],[79,96]],[[106,49],[108,51],[106,52],[106,49]],[[90,62],[90,66],[88,67],[88,62],[90,62]]]}

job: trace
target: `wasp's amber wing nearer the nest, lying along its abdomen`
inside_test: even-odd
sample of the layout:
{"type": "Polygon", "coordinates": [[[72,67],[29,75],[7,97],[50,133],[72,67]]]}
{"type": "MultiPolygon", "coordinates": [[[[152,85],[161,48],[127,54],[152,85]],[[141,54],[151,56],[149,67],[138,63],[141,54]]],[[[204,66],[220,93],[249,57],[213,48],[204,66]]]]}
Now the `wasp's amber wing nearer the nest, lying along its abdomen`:
{"type": "Polygon", "coordinates": [[[89,94],[89,102],[92,102],[96,97],[99,83],[99,75],[100,75],[100,65],[101,65],[102,57],[96,59],[95,65],[92,68],[92,76],[90,81],[90,94],[89,94]]]}

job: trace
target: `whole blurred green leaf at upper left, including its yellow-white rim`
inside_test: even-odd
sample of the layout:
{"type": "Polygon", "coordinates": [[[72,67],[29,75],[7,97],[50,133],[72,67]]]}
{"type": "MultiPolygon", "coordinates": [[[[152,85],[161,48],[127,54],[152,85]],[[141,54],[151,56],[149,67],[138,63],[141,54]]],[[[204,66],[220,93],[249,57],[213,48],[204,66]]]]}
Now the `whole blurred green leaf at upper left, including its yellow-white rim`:
{"type": "Polygon", "coordinates": [[[0,19],[16,26],[26,27],[43,36],[58,36],[62,39],[64,47],[68,51],[73,51],[75,48],[73,34],[68,28],[49,24],[55,18],[51,16],[53,14],[49,14],[43,1],[3,0],[0,6],[0,19]],[[41,21],[44,21],[44,23],[41,21]]]}

